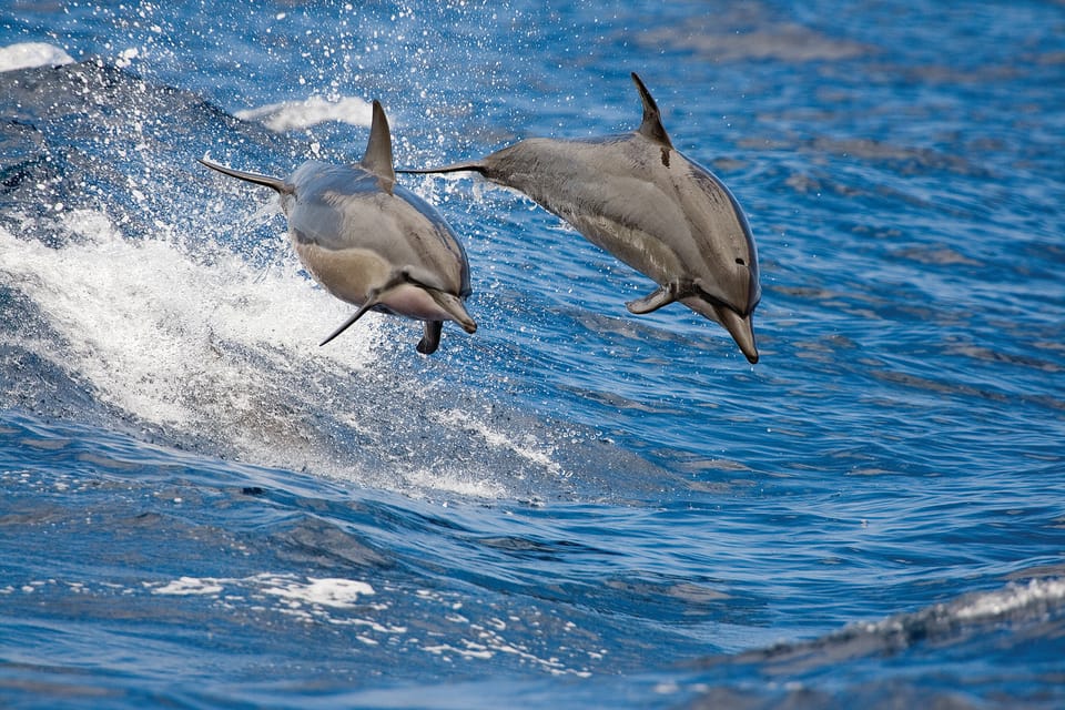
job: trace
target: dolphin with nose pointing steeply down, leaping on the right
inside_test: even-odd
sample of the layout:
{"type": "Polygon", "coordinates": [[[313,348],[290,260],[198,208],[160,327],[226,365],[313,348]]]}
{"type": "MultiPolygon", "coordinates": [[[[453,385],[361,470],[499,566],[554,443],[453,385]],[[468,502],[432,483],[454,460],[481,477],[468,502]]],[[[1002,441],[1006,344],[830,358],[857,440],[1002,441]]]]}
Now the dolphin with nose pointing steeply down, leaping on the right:
{"type": "Polygon", "coordinates": [[[658,284],[627,304],[631,313],[679,301],[724,326],[757,363],[752,315],[762,292],[747,217],[713,173],[673,148],[655,99],[636,73],[632,81],[643,103],[633,133],[532,138],[478,161],[398,172],[474,171],[524,192],[658,284]]]}

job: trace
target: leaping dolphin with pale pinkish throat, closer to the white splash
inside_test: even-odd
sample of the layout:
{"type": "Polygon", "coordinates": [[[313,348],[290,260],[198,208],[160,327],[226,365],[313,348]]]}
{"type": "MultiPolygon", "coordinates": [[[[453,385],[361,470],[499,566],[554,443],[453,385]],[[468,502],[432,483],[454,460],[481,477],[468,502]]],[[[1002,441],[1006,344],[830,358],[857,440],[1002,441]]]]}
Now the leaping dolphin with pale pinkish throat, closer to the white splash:
{"type": "Polygon", "coordinates": [[[200,162],[275,190],[304,267],[331,294],[358,306],[322,345],[367,311],[424,321],[417,346],[424,355],[439,346],[444,321],[467,333],[477,329],[465,307],[470,294],[466,251],[432,205],[396,184],[392,135],[379,102],[374,101],[369,142],[357,165],[311,160],[278,180],[200,162]]]}

